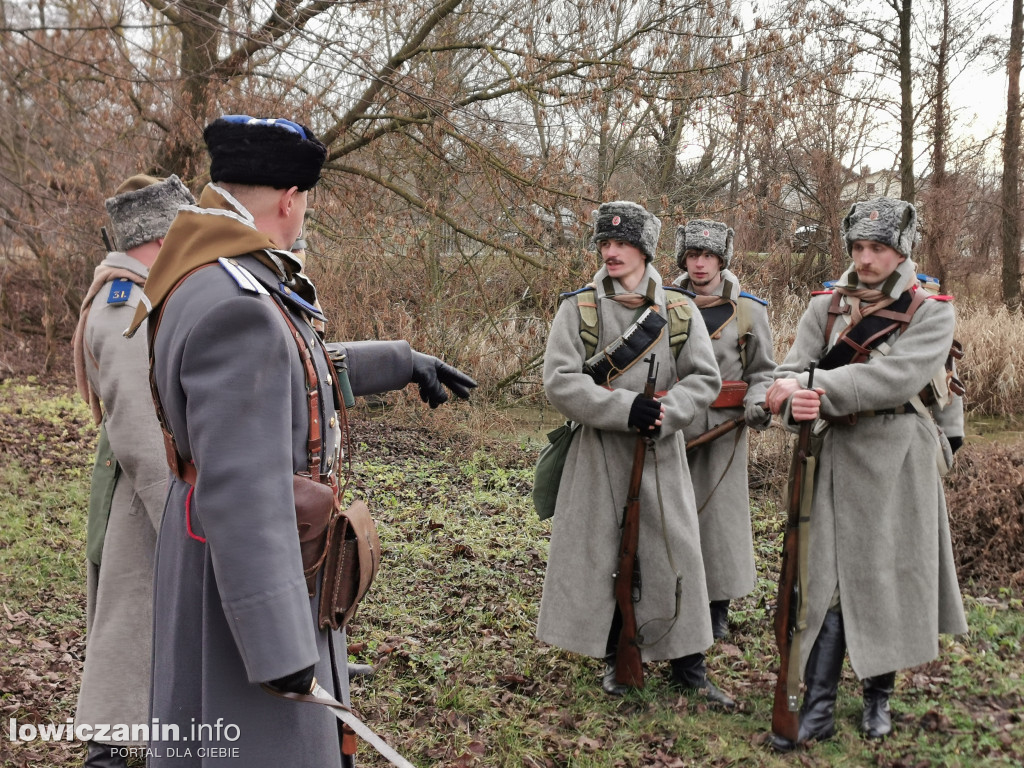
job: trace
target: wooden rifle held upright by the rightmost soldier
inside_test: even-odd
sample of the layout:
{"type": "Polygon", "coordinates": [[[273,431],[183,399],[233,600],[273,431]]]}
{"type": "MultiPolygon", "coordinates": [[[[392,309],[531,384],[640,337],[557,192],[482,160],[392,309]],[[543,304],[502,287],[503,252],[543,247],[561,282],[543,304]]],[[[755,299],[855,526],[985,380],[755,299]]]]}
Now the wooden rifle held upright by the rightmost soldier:
{"type": "MultiPolygon", "coordinates": [[[[807,368],[807,388],[814,388],[814,362],[807,368]]],[[[775,644],[778,646],[778,678],[775,680],[775,699],[771,710],[771,729],[782,738],[797,743],[800,733],[800,718],[797,716],[797,699],[800,693],[798,674],[792,674],[791,664],[800,665],[795,649],[799,648],[798,627],[799,605],[805,599],[805,585],[799,580],[799,550],[801,523],[810,520],[810,498],[805,498],[804,488],[809,477],[813,478],[815,459],[811,456],[811,428],[814,420],[800,425],[797,446],[793,452],[790,468],[790,499],[786,507],[785,534],[782,539],[782,565],[778,578],[778,596],[775,600],[775,644]]]]}

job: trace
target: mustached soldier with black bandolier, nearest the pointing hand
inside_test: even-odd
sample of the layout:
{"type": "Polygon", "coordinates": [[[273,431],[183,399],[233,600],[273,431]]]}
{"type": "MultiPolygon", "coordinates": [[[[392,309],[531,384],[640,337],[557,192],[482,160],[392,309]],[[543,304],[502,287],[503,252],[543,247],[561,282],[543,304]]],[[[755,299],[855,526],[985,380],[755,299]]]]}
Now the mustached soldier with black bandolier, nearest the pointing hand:
{"type": "Polygon", "coordinates": [[[611,695],[625,693],[626,687],[615,681],[622,615],[612,572],[634,449],[638,435],[650,436],[654,450],[640,492],[642,589],[635,606],[641,656],[644,662],[672,659],[675,684],[731,709],[734,702],[708,680],[705,669],[711,618],[682,433],[718,392],[715,353],[700,313],[683,292],[666,289],[650,263],[662,228],[657,217],[626,201],[605,203],[596,214],[593,242],[603,266],[588,291],[599,321],[596,348],[604,350],[624,337],[631,344],[648,338],[650,345],[623,364],[621,375],[598,381],[584,372],[583,299],[573,295],[563,300],[552,323],[544,358],[545,393],[560,413],[583,426],[572,439],[559,484],[537,636],[605,658],[602,687],[611,695]],[[677,347],[669,328],[663,327],[659,335],[648,334],[646,326],[638,328],[645,307],[666,318],[672,311],[684,313],[688,337],[678,352],[673,352],[677,347]],[[658,362],[655,400],[641,395],[648,366],[640,358],[651,352],[658,362]]]}

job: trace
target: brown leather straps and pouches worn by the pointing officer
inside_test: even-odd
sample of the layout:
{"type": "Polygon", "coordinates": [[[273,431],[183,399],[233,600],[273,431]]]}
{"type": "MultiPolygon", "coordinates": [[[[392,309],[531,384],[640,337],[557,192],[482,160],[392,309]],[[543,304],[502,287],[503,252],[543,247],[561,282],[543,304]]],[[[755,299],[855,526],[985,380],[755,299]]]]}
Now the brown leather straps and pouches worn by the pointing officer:
{"type": "MultiPolygon", "coordinates": [[[[147,329],[150,387],[157,411],[157,420],[164,437],[167,465],[178,479],[193,487],[196,485],[196,465],[187,461],[178,451],[174,435],[167,425],[157,390],[154,350],[157,331],[160,328],[168,299],[185,280],[206,266],[212,266],[212,264],[204,264],[193,269],[174,285],[161,304],[155,322],[151,323],[147,329]]],[[[324,441],[321,436],[319,377],[316,374],[316,366],[313,361],[312,351],[281,299],[274,294],[270,294],[270,297],[285,319],[292,340],[296,344],[306,386],[309,416],[309,431],[306,438],[306,471],[292,476],[303,575],[306,580],[308,594],[312,597],[316,593],[316,578],[321,572],[324,573],[317,625],[322,630],[328,627],[339,630],[343,629],[355,615],[359,601],[370,590],[370,586],[377,575],[381,561],[380,540],[377,536],[377,526],[370,515],[370,509],[366,502],[355,501],[347,509],[342,509],[343,490],[338,485],[337,476],[332,472],[321,473],[321,454],[324,441]]],[[[323,342],[315,333],[313,340],[313,343],[318,343],[323,348],[323,342]]],[[[325,358],[330,361],[327,349],[323,348],[323,351],[325,358]]],[[[339,390],[337,376],[331,377],[331,385],[338,407],[339,426],[342,442],[344,442],[348,437],[348,417],[344,399],[339,390]]]]}

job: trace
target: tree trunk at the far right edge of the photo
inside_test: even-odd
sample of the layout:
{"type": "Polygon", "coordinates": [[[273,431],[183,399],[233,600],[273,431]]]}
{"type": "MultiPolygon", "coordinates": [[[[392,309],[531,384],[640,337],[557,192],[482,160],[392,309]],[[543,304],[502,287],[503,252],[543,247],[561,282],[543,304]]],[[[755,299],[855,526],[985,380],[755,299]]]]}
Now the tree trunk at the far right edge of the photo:
{"type": "Polygon", "coordinates": [[[1013,0],[1010,53],[1007,56],[1007,130],[1002,140],[1002,301],[1011,309],[1021,304],[1021,47],[1024,42],[1024,0],[1013,0]]]}

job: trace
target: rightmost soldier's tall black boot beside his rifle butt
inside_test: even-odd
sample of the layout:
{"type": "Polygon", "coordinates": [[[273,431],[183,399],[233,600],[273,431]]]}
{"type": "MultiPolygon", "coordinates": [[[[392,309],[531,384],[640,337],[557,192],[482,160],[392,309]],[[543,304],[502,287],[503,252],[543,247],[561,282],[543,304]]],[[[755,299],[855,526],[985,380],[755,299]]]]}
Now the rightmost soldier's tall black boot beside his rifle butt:
{"type": "MultiPolygon", "coordinates": [[[[843,630],[843,614],[838,610],[829,610],[825,613],[821,631],[818,632],[811,655],[807,658],[807,669],[804,670],[807,690],[800,708],[799,742],[824,741],[836,734],[836,696],[839,694],[844,655],[846,634],[843,630]]],[[[771,743],[778,752],[790,752],[796,746],[790,739],[775,733],[772,734],[771,743]]]]}

